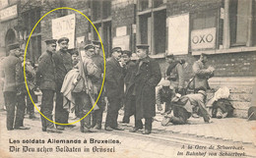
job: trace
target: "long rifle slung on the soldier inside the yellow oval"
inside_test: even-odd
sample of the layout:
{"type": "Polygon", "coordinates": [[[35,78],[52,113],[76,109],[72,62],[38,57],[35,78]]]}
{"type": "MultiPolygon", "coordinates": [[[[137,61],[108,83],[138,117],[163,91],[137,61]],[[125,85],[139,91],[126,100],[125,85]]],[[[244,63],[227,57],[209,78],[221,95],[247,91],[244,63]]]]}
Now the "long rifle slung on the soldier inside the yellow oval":
{"type": "MultiPolygon", "coordinates": [[[[84,63],[83,63],[83,59],[82,59],[80,47],[79,47],[79,49],[78,49],[78,52],[79,52],[79,57],[80,57],[80,59],[79,59],[80,64],[78,65],[78,67],[79,67],[79,74],[80,74],[80,77],[81,77],[82,79],[84,79],[84,81],[83,81],[83,87],[86,88],[85,90],[86,90],[86,92],[89,94],[89,97],[90,97],[90,99],[91,99],[92,106],[94,107],[94,105],[95,105],[95,107],[94,107],[93,110],[98,110],[99,108],[98,108],[98,106],[96,105],[95,96],[92,96],[92,94],[91,94],[91,89],[90,89],[90,87],[88,86],[88,85],[89,85],[89,84],[88,84],[88,79],[87,79],[87,76],[86,76],[86,74],[85,74],[84,63]],[[85,82],[86,82],[86,83],[85,83],[85,82]]],[[[94,89],[93,89],[93,90],[94,90],[94,89]]]]}

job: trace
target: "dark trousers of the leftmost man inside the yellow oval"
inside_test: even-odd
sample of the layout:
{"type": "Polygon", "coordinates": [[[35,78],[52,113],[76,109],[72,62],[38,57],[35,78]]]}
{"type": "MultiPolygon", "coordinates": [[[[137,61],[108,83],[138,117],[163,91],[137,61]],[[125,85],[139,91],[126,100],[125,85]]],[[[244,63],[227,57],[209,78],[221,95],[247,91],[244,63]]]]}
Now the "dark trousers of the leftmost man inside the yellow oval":
{"type": "MultiPolygon", "coordinates": [[[[52,121],[52,110],[53,110],[53,97],[54,90],[50,89],[42,89],[42,97],[41,97],[41,108],[40,112],[49,120],[52,121]]],[[[45,131],[47,128],[53,129],[54,124],[46,120],[43,116],[41,116],[41,125],[42,130],[45,131]]]]}

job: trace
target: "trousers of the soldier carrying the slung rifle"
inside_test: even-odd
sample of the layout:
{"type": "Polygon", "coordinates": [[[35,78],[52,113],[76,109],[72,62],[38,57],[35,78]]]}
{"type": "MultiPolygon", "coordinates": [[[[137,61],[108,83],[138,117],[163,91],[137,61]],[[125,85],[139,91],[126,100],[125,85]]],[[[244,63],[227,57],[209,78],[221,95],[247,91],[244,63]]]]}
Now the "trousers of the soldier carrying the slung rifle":
{"type": "MultiPolygon", "coordinates": [[[[76,106],[78,106],[78,116],[82,119],[92,108],[90,96],[86,92],[77,92],[74,96],[76,106]]],[[[80,123],[81,127],[91,128],[91,114],[88,114],[80,123]]]]}

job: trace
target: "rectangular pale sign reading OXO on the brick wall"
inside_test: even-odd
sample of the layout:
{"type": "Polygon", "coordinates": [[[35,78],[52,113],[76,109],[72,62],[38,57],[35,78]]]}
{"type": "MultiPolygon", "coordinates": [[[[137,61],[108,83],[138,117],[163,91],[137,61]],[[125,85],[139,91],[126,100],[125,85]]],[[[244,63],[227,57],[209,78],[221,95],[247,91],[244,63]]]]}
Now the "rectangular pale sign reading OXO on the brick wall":
{"type": "Polygon", "coordinates": [[[192,50],[215,48],[216,27],[192,30],[190,43],[192,50]]]}

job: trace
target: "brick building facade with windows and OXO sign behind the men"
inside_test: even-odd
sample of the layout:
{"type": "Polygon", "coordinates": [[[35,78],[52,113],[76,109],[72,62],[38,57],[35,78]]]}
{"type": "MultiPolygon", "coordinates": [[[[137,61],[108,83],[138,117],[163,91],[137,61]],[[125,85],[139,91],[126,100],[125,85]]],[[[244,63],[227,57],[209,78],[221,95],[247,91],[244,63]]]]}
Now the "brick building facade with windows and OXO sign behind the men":
{"type": "MultiPolygon", "coordinates": [[[[213,88],[229,87],[238,117],[246,117],[256,79],[255,0],[2,0],[0,47],[26,41],[32,26],[45,13],[58,7],[81,11],[96,26],[105,56],[113,46],[135,52],[136,43],[150,45],[150,53],[160,63],[172,53],[188,63],[186,79],[193,76],[192,65],[202,52],[216,68],[213,88]]],[[[36,63],[45,50],[44,39],[52,37],[52,20],[75,14],[75,45],[98,39],[94,27],[82,15],[58,10],[46,16],[34,29],[28,54],[36,63]]],[[[1,49],[2,50],[2,49],[1,49]]],[[[5,53],[5,52],[4,52],[5,53]]],[[[3,54],[3,53],[2,53],[3,54]]]]}

